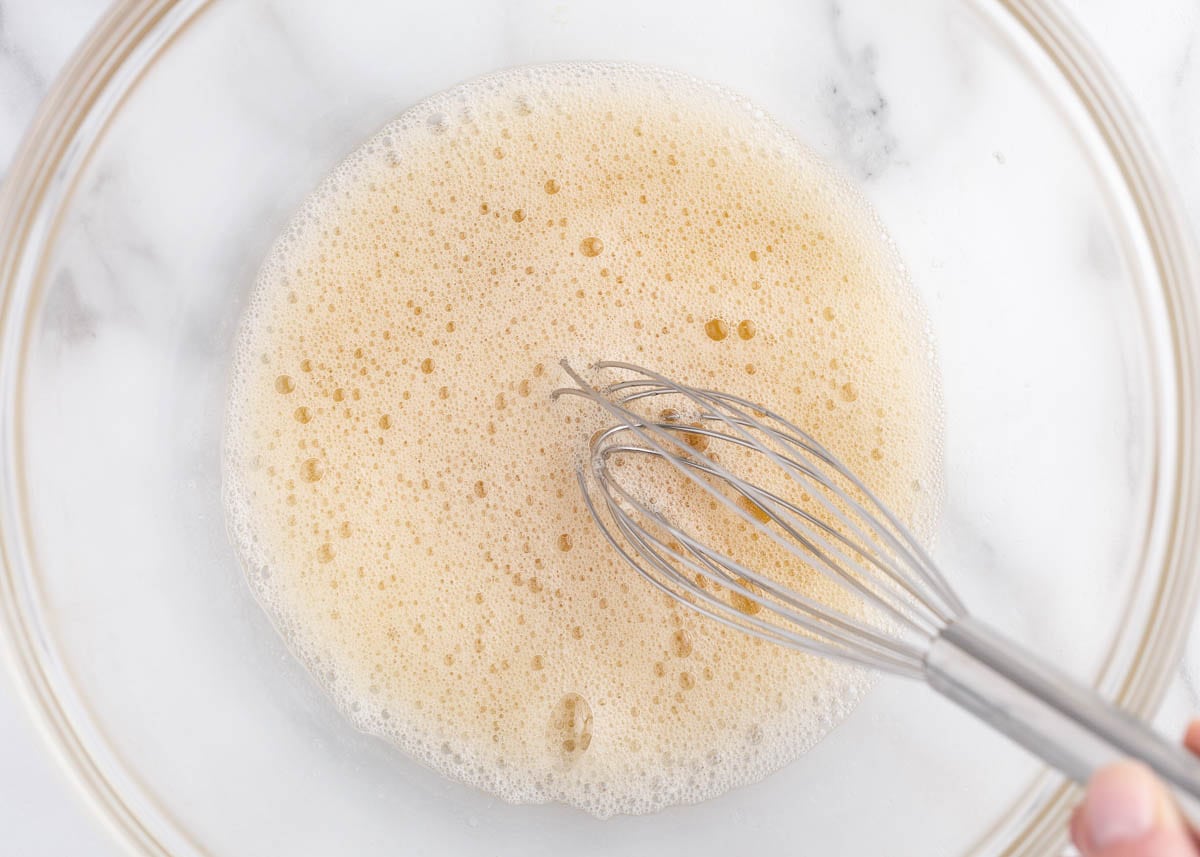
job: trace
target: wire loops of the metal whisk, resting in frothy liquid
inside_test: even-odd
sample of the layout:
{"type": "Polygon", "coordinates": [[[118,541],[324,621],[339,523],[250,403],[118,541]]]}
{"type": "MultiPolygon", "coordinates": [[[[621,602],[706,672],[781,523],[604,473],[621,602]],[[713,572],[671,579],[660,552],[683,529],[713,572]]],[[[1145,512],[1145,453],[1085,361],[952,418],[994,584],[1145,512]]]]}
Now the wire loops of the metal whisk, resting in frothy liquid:
{"type": "Polygon", "coordinates": [[[916,539],[811,436],[754,402],[677,384],[632,364],[596,364],[598,371],[634,376],[602,389],[589,385],[565,361],[563,368],[576,386],[557,390],[556,397],[582,396],[616,420],[593,437],[578,480],[589,513],[628,564],[672,598],[762,639],[893,672],[919,673],[929,641],[962,612],[961,605],[916,539]],[[655,420],[631,408],[656,397],[686,402],[695,412],[692,421],[655,420]],[[622,435],[634,443],[620,442],[622,435]],[[743,479],[715,454],[701,454],[695,448],[697,438],[704,438],[706,445],[727,444],[764,456],[800,490],[804,501],[820,509],[809,510],[743,479]],[[850,592],[869,615],[836,610],[698,541],[614,475],[614,459],[637,455],[671,465],[743,525],[850,592]],[[748,501],[749,509],[738,499],[748,501]],[[750,609],[731,606],[701,580],[737,595],[750,609]]]}

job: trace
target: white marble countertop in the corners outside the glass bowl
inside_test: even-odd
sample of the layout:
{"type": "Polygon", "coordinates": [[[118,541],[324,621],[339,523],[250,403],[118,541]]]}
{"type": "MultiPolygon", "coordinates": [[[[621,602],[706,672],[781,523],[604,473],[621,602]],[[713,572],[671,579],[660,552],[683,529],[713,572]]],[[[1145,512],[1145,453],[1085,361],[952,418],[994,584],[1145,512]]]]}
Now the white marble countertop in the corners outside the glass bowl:
{"type": "MultiPolygon", "coordinates": [[[[1064,0],[1133,94],[1193,221],[1200,223],[1200,4],[1064,0]]],[[[106,0],[0,0],[0,176],[40,100],[106,0]]],[[[1158,715],[1182,731],[1200,712],[1200,634],[1158,715]]],[[[102,825],[72,793],[0,671],[0,851],[115,855],[102,825]]]]}

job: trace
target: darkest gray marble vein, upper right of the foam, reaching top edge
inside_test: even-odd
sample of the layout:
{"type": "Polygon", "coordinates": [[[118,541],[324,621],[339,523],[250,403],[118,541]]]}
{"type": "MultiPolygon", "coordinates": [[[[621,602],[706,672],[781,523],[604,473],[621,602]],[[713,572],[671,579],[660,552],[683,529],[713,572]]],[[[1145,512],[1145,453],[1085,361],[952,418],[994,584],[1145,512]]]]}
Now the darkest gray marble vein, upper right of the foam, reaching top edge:
{"type": "Polygon", "coordinates": [[[887,169],[896,149],[888,127],[888,100],[875,77],[877,49],[851,42],[838,0],[829,4],[829,25],[841,65],[826,92],[829,119],[846,162],[854,164],[860,178],[871,179],[887,169]]]}

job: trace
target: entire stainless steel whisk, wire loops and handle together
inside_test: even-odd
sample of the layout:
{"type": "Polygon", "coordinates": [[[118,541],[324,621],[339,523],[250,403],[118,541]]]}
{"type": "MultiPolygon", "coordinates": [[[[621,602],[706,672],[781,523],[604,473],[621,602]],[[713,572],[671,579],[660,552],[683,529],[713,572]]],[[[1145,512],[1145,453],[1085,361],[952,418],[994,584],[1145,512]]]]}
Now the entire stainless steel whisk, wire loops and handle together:
{"type": "Polygon", "coordinates": [[[1078,783],[1139,759],[1200,819],[1200,762],[971,617],[898,516],[811,435],[762,404],[632,364],[595,364],[623,378],[600,389],[562,366],[576,386],[554,397],[582,396],[613,419],[578,468],[583,499],[608,544],[654,587],[763,640],[923,679],[1078,783]],[[751,527],[850,598],[798,592],[701,541],[644,485],[619,478],[638,456],[668,465],[728,523],[751,527]],[[766,462],[770,490],[748,481],[754,468],[738,462],[760,474],[766,462]]]}

